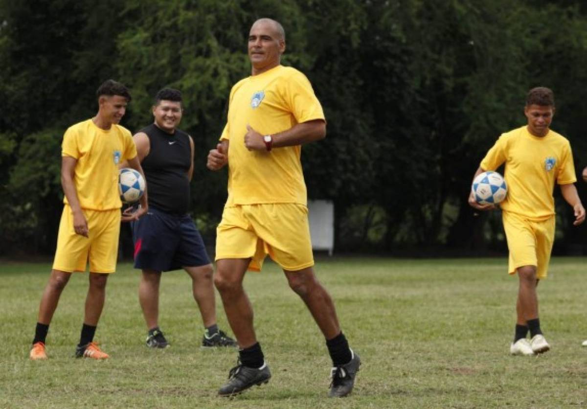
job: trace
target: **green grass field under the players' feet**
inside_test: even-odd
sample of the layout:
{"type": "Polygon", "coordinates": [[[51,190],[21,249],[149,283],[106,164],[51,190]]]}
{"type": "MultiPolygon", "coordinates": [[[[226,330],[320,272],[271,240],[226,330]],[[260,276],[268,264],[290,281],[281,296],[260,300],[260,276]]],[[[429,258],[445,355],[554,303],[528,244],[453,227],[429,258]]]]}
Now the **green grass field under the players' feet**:
{"type": "MultiPolygon", "coordinates": [[[[129,264],[109,281],[96,339],[111,359],[73,358],[87,276],[74,276],[48,337],[48,361],[29,361],[48,264],[0,264],[0,407],[485,408],[586,407],[587,338],[582,259],[555,258],[539,286],[552,350],[508,355],[517,278],[504,259],[318,259],[343,330],[363,365],[352,397],[327,398],[330,361],[301,300],[273,263],[245,279],[272,380],[232,400],[217,388],[235,350],[203,350],[185,273],[162,280],[160,324],[172,346],[149,350],[129,264]]],[[[221,327],[227,323],[218,302],[221,327]]]]}

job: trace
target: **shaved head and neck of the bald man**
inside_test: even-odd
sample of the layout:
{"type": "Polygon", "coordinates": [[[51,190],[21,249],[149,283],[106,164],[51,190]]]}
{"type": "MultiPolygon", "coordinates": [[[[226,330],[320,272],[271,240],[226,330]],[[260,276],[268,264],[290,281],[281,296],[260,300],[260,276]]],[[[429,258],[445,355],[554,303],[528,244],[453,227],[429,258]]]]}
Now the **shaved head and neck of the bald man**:
{"type": "Polygon", "coordinates": [[[264,73],[279,65],[285,51],[285,39],[276,22],[256,21],[249,32],[248,53],[252,75],[264,73]]]}

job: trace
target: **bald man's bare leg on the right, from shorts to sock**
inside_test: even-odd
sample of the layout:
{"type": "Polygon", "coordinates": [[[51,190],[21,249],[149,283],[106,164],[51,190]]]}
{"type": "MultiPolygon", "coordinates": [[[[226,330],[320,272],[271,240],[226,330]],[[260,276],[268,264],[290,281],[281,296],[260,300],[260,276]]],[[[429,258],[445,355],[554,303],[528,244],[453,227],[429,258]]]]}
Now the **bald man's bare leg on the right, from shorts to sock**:
{"type": "Polygon", "coordinates": [[[332,298],[316,279],[311,267],[300,271],[285,271],[289,286],[306,303],[316,324],[326,339],[333,339],[340,333],[338,317],[332,298]]]}

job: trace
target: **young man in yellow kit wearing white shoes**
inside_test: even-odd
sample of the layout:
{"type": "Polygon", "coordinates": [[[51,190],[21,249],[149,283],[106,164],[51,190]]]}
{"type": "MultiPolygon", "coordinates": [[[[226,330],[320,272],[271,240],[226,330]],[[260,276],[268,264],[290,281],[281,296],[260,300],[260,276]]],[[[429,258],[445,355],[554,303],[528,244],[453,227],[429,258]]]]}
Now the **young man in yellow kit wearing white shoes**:
{"type": "MultiPolygon", "coordinates": [[[[502,134],[475,173],[477,177],[505,163],[508,195],[500,207],[510,250],[508,272],[518,273],[519,279],[517,322],[510,347],[513,355],[534,355],[550,349],[540,328],[536,288],[539,280],[546,278],[554,242],[555,182],[575,212],[573,225],[585,221],[585,209],[573,184],[576,177],[571,145],[549,128],[554,111],[550,89],[529,90],[524,108],[528,124],[502,134]]],[[[495,209],[495,205],[478,204],[472,192],[468,202],[478,210],[495,209]]]]}

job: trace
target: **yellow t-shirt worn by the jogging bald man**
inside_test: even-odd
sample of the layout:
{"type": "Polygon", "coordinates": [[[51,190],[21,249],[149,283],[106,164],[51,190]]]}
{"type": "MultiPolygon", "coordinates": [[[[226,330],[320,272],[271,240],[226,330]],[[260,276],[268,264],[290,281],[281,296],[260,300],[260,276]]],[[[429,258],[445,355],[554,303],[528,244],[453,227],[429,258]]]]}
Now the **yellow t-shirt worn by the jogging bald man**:
{"type": "Polygon", "coordinates": [[[322,106],[308,79],[294,68],[277,66],[235,84],[220,137],[230,140],[226,205],[306,205],[301,146],[249,151],[244,137],[247,124],[262,135],[271,135],[315,119],[324,119],[322,106]]]}

